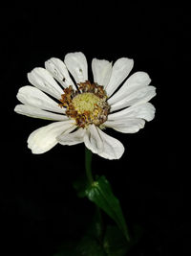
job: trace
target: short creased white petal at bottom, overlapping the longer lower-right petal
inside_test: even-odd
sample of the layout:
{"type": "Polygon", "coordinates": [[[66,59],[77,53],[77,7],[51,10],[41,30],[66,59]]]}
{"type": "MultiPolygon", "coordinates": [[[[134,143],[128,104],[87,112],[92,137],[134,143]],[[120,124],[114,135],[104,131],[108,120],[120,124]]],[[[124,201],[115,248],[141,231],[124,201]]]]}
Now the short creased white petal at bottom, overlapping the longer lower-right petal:
{"type": "Polygon", "coordinates": [[[84,143],[86,147],[94,153],[103,151],[103,141],[101,140],[98,128],[95,125],[90,125],[84,135],[84,143]]]}

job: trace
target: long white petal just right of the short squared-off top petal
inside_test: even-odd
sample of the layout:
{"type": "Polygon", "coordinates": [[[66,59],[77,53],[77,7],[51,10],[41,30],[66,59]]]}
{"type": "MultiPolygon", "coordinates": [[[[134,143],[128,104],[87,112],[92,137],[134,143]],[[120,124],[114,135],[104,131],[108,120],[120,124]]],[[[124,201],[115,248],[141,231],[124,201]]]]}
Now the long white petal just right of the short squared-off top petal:
{"type": "Polygon", "coordinates": [[[131,58],[118,58],[114,63],[111,79],[106,86],[106,92],[110,97],[131,72],[134,65],[134,60],[131,58]]]}

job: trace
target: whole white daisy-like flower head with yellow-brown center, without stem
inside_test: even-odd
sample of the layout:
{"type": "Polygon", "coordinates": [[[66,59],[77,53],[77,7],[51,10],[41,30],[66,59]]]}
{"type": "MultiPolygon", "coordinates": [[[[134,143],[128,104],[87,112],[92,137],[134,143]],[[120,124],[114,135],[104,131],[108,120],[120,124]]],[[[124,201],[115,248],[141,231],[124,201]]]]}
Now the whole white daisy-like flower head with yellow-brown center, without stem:
{"type": "Polygon", "coordinates": [[[155,116],[155,107],[148,102],[156,95],[156,88],[149,85],[148,74],[137,72],[126,80],[133,65],[131,58],[118,58],[114,65],[94,58],[94,83],[88,80],[87,60],[80,52],[67,54],[64,62],[50,58],[46,68],[34,68],[28,74],[34,86],[19,89],[17,99],[22,105],[14,110],[56,122],[31,133],[28,147],[32,153],[50,151],[57,143],[84,143],[104,158],[120,158],[123,145],[103,129],[134,133],[155,116]]]}

